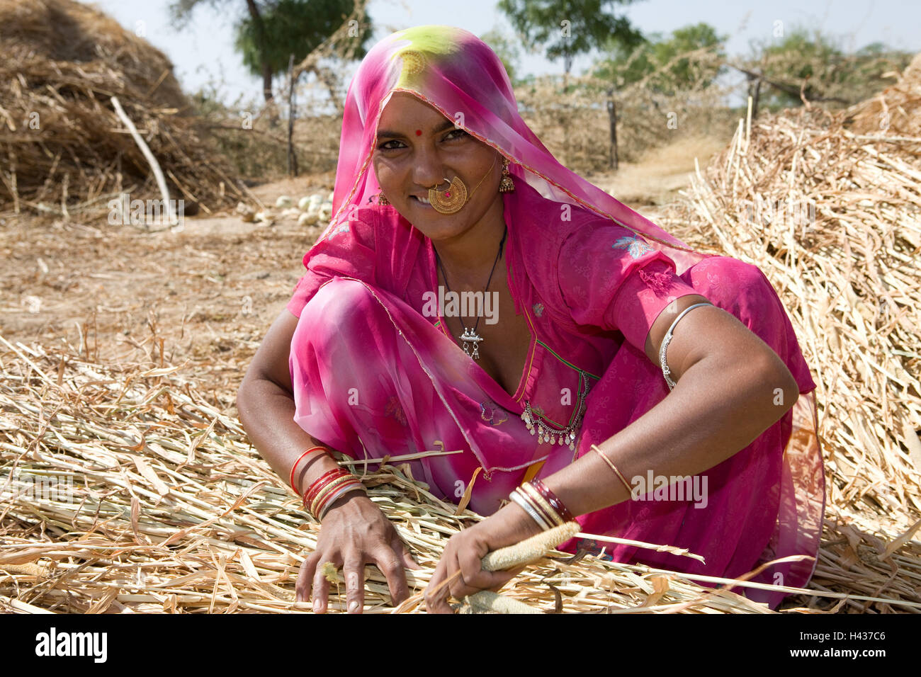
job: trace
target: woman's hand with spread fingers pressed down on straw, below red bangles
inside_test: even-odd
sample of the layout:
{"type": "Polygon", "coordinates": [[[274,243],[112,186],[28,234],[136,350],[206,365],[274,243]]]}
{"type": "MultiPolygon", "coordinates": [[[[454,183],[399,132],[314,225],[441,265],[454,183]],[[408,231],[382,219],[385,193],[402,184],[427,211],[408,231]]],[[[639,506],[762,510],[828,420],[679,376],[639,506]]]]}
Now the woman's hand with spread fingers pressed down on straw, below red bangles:
{"type": "Polygon", "coordinates": [[[348,613],[361,613],[365,604],[365,565],[375,564],[387,577],[391,604],[409,598],[403,567],[422,568],[402,542],[380,508],[364,494],[341,496],[323,517],[317,548],[297,573],[295,600],[313,600],[313,611],[326,613],[330,582],[322,571],[324,562],[342,567],[348,613]]]}

